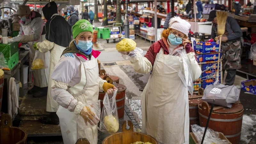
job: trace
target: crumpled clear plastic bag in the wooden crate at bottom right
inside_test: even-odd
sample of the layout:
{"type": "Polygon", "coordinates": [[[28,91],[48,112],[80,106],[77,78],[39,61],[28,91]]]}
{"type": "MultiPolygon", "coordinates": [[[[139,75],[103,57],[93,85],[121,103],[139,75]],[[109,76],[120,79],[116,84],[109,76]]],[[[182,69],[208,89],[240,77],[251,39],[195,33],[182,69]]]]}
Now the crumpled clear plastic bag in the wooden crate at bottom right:
{"type": "MultiPolygon", "coordinates": [[[[201,127],[197,124],[193,124],[191,125],[191,129],[194,135],[196,136],[196,139],[198,141],[197,144],[201,144],[205,127],[201,127]]],[[[212,129],[207,128],[207,131],[204,137],[204,144],[229,144],[229,142],[228,140],[221,140],[219,138],[219,132],[215,132],[212,129]]]]}

